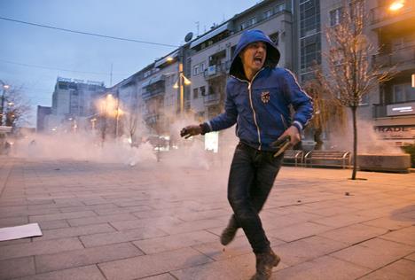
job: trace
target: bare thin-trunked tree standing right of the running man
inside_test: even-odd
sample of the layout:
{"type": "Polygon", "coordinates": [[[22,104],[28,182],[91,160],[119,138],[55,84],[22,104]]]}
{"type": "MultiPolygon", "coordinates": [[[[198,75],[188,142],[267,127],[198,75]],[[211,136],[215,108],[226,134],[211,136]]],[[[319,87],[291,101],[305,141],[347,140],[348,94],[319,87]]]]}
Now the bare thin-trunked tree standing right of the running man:
{"type": "Polygon", "coordinates": [[[353,120],[353,173],[356,180],[357,121],[356,111],[362,97],[379,83],[391,79],[393,69],[381,70],[371,65],[369,58],[378,51],[364,33],[369,20],[364,14],[364,1],[343,1],[341,20],[335,27],[327,28],[325,37],[328,51],[324,54],[328,73],[321,76],[328,92],[341,105],[351,110],[353,120]]]}

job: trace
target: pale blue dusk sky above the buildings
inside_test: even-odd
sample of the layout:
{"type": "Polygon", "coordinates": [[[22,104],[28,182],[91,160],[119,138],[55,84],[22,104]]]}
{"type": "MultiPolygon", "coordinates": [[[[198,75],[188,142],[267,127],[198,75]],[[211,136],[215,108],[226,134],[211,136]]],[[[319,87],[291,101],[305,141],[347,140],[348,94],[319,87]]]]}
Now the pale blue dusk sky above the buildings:
{"type": "MultiPolygon", "coordinates": [[[[214,23],[222,23],[257,2],[259,0],[0,0],[0,17],[179,45],[184,43],[187,33],[198,34],[197,22],[201,35],[214,23]]],[[[34,108],[35,105],[51,105],[58,76],[105,82],[110,86],[112,64],[115,84],[175,50],[4,19],[0,19],[0,34],[0,80],[15,87],[23,86],[34,108]]],[[[35,109],[33,115],[35,117],[35,109]]]]}

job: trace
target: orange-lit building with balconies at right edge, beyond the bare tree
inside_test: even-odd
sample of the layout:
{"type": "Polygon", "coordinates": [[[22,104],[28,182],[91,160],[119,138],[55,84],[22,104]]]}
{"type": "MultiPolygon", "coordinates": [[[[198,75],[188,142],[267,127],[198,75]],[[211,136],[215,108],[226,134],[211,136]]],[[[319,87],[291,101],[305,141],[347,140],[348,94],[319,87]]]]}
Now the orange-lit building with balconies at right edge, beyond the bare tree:
{"type": "Polygon", "coordinates": [[[380,84],[372,96],[372,118],[377,132],[401,145],[415,140],[415,1],[371,0],[372,41],[380,47],[372,63],[384,69],[395,67],[394,78],[380,84]]]}

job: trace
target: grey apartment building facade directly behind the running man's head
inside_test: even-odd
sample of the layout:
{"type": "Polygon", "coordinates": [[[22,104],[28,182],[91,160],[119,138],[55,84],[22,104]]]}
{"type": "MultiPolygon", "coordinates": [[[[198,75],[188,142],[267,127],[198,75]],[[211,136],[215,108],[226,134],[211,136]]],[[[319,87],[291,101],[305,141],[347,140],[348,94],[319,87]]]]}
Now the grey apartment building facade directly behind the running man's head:
{"type": "Polygon", "coordinates": [[[279,65],[294,69],[291,11],[290,1],[262,1],[192,41],[191,107],[198,116],[211,118],[223,111],[233,51],[247,28],[259,28],[269,35],[282,53],[279,65]]]}

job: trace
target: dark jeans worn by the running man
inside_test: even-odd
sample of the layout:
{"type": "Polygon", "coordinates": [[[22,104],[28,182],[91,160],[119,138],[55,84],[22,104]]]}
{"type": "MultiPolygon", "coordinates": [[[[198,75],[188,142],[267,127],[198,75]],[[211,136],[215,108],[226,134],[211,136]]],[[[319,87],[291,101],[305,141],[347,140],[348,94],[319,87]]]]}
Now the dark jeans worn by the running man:
{"type": "Polygon", "coordinates": [[[231,163],[228,200],[233,209],[230,225],[244,230],[254,253],[270,250],[259,212],[270,194],[283,155],[262,152],[239,143],[231,163]]]}

